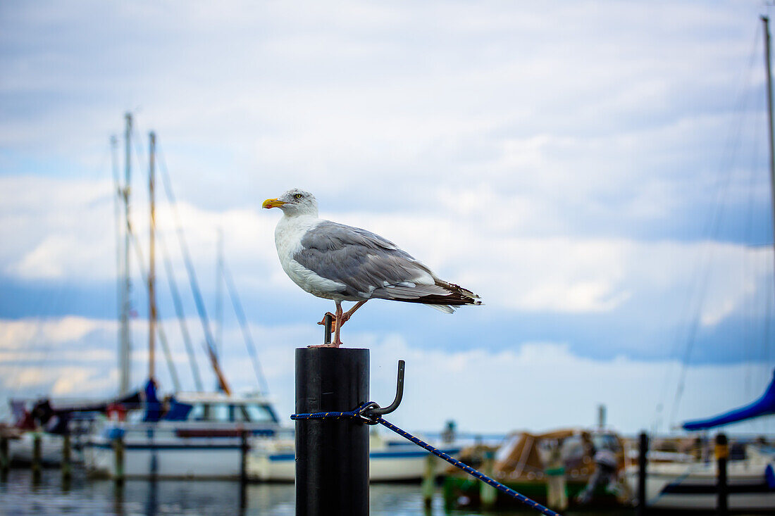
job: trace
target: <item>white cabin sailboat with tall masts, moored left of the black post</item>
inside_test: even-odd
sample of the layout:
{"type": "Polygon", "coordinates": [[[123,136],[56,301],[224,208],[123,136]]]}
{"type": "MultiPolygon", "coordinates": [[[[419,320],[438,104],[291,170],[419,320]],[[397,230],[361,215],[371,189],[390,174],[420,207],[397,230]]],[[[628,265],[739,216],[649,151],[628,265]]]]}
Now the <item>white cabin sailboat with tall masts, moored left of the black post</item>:
{"type": "MultiPolygon", "coordinates": [[[[129,138],[132,133],[131,115],[126,116],[126,184],[129,184],[129,138]]],[[[112,476],[116,473],[139,478],[236,478],[242,470],[246,442],[257,439],[276,439],[284,432],[277,418],[277,412],[264,394],[237,395],[232,393],[226,376],[219,365],[212,334],[195,283],[193,267],[188,250],[183,249],[186,267],[190,275],[202,325],[205,332],[205,350],[212,370],[218,381],[218,391],[205,392],[198,377],[195,362],[192,361],[195,383],[198,391],[185,392],[177,388],[177,375],[172,375],[176,387],[174,394],[161,397],[157,390],[155,371],[155,347],[157,333],[164,335],[157,326],[158,309],[155,297],[155,205],[154,172],[156,162],[156,136],[150,133],[149,190],[150,190],[150,262],[147,273],[141,270],[148,291],[149,327],[149,370],[148,378],[140,391],[136,403],[114,403],[106,408],[108,419],[102,428],[93,433],[84,443],[84,464],[92,473],[112,476]],[[116,471],[114,444],[121,439],[123,459],[116,471]]],[[[114,170],[115,172],[115,170],[114,170]]],[[[117,174],[114,174],[117,177],[117,174]]],[[[118,188],[125,202],[126,240],[123,249],[119,246],[119,271],[125,276],[119,281],[119,308],[121,329],[119,330],[119,391],[129,390],[129,188],[118,188]],[[124,261],[120,256],[123,251],[124,261]]],[[[169,192],[168,192],[169,193],[169,192]]],[[[117,214],[119,209],[116,209],[117,214]]],[[[121,225],[119,224],[120,228],[121,225]]],[[[178,228],[181,234],[180,226],[178,228]]],[[[162,240],[163,241],[163,240],[162,240]]],[[[120,244],[120,238],[118,239],[120,244]]],[[[182,239],[181,239],[182,243],[182,239]]],[[[137,247],[136,247],[137,248],[137,247]]],[[[221,260],[219,260],[221,261],[221,260]]],[[[171,269],[171,267],[170,267],[171,269]]],[[[168,269],[168,275],[170,270],[168,269]]],[[[225,277],[232,288],[230,277],[225,277]]],[[[171,282],[172,283],[172,282],[171,282]]],[[[177,292],[173,293],[177,301],[177,292]]],[[[232,299],[233,301],[233,299],[232,299]]],[[[235,305],[236,308],[238,305],[235,305]]],[[[176,307],[177,308],[177,307],[176,307]]],[[[179,314],[179,318],[180,314],[179,314]]],[[[238,318],[243,322],[241,306],[238,318]],[[240,317],[242,315],[242,317],[240,317]]],[[[181,318],[182,319],[182,318],[181,318]]],[[[184,332],[184,340],[188,332],[184,332]]],[[[160,338],[163,350],[169,355],[165,340],[160,338]]],[[[252,343],[252,342],[251,342],[252,343]]],[[[249,346],[250,348],[250,346],[249,346]]],[[[190,358],[193,350],[189,349],[190,358]]],[[[254,351],[252,353],[255,354],[254,351]]],[[[255,361],[255,356],[253,356],[255,361]]],[[[168,357],[169,361],[169,357],[168,357]]],[[[255,366],[255,363],[254,363],[255,366]]],[[[171,373],[172,373],[171,369],[171,373]]],[[[257,371],[258,374],[258,371],[257,371]]],[[[260,380],[260,379],[259,379],[260,380]]],[[[265,390],[265,389],[264,389],[265,390]]]]}

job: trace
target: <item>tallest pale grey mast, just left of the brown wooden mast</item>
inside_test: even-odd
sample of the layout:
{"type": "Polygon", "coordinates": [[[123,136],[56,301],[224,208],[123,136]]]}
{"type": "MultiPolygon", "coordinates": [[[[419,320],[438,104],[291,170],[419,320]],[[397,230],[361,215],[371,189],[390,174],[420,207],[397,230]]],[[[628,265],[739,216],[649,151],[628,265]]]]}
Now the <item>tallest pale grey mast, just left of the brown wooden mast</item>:
{"type": "Polygon", "coordinates": [[[124,132],[124,143],[126,144],[126,166],[124,169],[124,188],[122,197],[124,200],[124,223],[126,231],[124,232],[124,261],[123,276],[124,287],[122,289],[122,307],[121,307],[121,342],[119,346],[119,394],[129,394],[129,292],[132,287],[129,281],[129,245],[131,238],[131,228],[129,226],[129,191],[132,179],[132,113],[126,113],[126,130],[124,132]]]}

